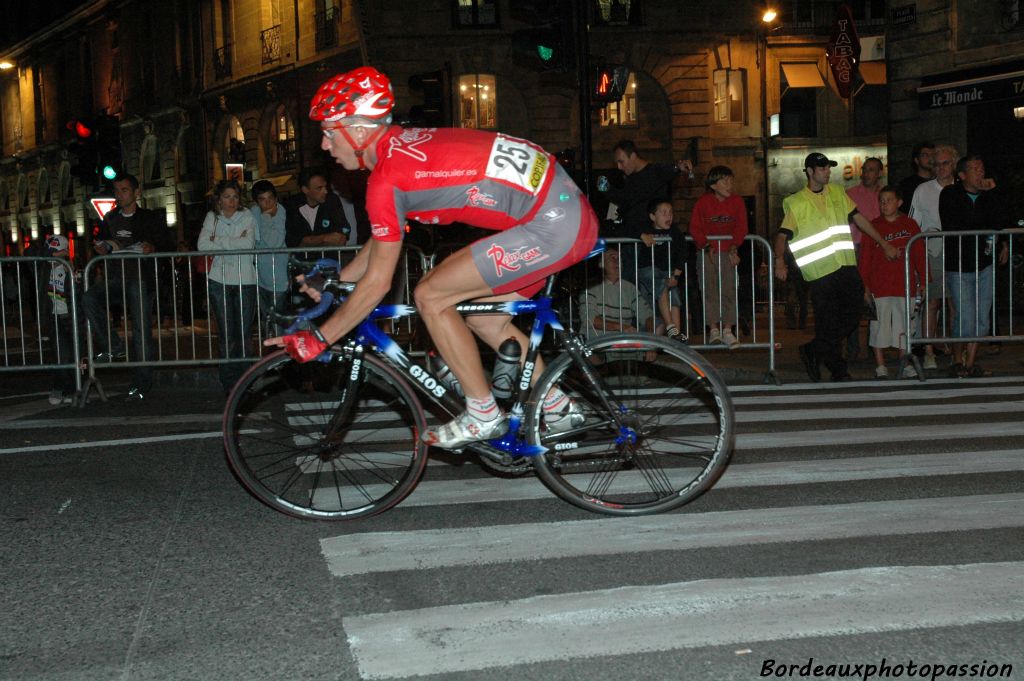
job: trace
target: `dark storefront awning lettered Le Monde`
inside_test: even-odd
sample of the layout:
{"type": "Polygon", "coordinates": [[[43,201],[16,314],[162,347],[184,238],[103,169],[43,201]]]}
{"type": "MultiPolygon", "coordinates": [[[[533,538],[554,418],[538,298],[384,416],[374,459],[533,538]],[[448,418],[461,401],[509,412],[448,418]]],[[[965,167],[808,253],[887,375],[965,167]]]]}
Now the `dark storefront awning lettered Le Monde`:
{"type": "Polygon", "coordinates": [[[927,76],[918,88],[921,109],[1024,98],[1024,61],[927,76]]]}

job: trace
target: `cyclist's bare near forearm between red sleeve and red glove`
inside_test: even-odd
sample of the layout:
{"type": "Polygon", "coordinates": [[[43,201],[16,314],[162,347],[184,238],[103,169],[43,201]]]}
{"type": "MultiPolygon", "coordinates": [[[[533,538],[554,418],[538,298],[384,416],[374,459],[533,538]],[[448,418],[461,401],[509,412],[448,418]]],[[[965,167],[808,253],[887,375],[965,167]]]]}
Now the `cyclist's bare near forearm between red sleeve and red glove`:
{"type": "Polygon", "coordinates": [[[355,290],[319,328],[328,343],[333,343],[354,329],[380,304],[391,290],[391,279],[400,255],[400,241],[372,240],[359,251],[356,259],[342,270],[340,276],[346,280],[347,272],[359,266],[357,261],[360,258],[366,262],[355,290]]]}

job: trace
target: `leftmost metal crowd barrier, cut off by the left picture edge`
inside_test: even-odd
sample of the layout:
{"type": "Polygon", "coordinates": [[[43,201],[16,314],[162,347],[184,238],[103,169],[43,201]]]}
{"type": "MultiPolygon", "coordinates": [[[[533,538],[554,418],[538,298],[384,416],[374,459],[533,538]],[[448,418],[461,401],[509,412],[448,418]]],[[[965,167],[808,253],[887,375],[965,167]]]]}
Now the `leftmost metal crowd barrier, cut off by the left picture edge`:
{"type": "Polygon", "coordinates": [[[75,271],[62,258],[0,258],[0,372],[74,373],[81,393],[79,300],[75,271]],[[48,295],[50,278],[63,274],[67,313],[48,295]]]}

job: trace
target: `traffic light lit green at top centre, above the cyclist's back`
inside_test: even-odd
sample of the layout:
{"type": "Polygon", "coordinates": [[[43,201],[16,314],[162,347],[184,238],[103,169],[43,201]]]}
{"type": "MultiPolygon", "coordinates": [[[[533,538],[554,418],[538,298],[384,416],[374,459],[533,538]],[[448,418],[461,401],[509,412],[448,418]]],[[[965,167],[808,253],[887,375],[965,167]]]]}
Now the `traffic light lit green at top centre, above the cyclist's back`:
{"type": "Polygon", "coordinates": [[[575,65],[572,3],[569,0],[519,0],[513,17],[532,28],[512,33],[513,52],[541,71],[571,71],[575,65]]]}

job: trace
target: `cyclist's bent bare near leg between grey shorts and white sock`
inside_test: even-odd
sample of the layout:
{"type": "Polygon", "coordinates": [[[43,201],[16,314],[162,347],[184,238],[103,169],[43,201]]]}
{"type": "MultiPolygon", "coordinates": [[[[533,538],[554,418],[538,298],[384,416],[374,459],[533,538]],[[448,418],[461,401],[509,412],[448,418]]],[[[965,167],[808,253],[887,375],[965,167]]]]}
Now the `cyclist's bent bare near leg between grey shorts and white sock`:
{"type": "Polygon", "coordinates": [[[466,396],[473,399],[486,398],[490,385],[473,333],[455,306],[490,294],[468,247],[428,271],[414,292],[416,307],[437,351],[459,379],[466,396]]]}

